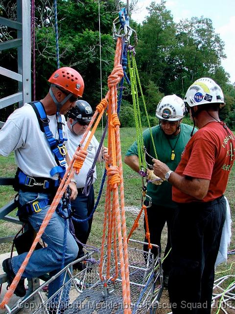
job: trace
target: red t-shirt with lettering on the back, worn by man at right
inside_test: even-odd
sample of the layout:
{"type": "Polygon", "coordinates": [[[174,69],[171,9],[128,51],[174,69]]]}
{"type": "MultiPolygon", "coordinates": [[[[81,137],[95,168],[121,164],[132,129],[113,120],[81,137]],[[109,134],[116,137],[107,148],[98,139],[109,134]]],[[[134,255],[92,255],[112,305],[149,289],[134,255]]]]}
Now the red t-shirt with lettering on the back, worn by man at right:
{"type": "MultiPolygon", "coordinates": [[[[227,186],[235,159],[235,135],[218,122],[208,123],[188,141],[175,172],[181,176],[210,180],[207,195],[201,202],[220,197],[227,186]]],[[[172,186],[172,199],[178,203],[198,200],[172,186]]]]}

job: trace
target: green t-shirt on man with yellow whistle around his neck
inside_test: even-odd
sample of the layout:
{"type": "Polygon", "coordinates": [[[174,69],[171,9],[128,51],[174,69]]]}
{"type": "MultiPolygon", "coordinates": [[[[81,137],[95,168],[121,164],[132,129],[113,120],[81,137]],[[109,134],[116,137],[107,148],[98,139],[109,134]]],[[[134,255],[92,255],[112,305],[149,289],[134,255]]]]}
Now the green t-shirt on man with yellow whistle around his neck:
{"type": "MultiPolygon", "coordinates": [[[[192,127],[187,124],[181,123],[181,131],[176,136],[168,136],[168,142],[164,132],[160,128],[160,126],[156,126],[151,128],[153,134],[154,145],[157,151],[158,159],[167,164],[167,166],[171,170],[175,170],[178,166],[178,163],[181,159],[181,153],[185,149],[186,144],[190,139],[190,133],[192,131],[192,127]],[[177,144],[176,144],[177,142],[177,144]],[[176,144],[176,146],[175,146],[176,144]],[[171,145],[171,146],[170,146],[171,145]],[[174,148],[175,146],[175,148],[174,148]],[[174,148],[175,158],[171,160],[171,152],[172,148],[174,148]]],[[[194,133],[197,130],[195,129],[194,133]]],[[[152,145],[152,140],[150,136],[149,129],[143,132],[143,142],[144,147],[146,148],[149,155],[152,157],[156,157],[154,153],[154,148],[152,145]]],[[[137,142],[135,142],[127,151],[126,156],[138,156],[138,148],[137,142]]],[[[149,164],[153,164],[152,158],[146,155],[146,161],[149,164]]],[[[147,185],[147,194],[152,198],[152,203],[155,205],[161,205],[164,207],[175,208],[176,205],[172,201],[172,193],[171,193],[171,184],[167,181],[164,181],[161,185],[156,185],[153,183],[148,183],[147,185]]]]}

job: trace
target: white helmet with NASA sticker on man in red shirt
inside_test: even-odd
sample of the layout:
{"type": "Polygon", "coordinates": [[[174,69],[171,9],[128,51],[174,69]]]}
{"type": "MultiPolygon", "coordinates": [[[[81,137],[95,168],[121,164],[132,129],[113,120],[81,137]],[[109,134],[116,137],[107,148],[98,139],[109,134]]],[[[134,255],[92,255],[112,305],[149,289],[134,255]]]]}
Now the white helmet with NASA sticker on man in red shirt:
{"type": "Polygon", "coordinates": [[[184,101],[190,106],[225,104],[224,94],[211,78],[199,78],[188,88],[184,101]]]}

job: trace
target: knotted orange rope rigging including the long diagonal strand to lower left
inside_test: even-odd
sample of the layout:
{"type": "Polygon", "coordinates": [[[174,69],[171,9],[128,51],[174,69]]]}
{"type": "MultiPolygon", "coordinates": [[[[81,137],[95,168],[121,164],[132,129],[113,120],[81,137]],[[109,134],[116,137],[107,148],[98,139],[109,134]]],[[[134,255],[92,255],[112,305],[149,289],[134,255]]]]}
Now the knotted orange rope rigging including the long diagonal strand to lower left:
{"type": "MultiPolygon", "coordinates": [[[[108,174],[107,188],[106,188],[106,204],[105,204],[105,219],[103,225],[103,236],[102,236],[102,247],[101,247],[101,257],[100,257],[100,270],[99,275],[101,280],[104,281],[103,272],[103,261],[104,261],[104,243],[106,237],[106,227],[107,227],[107,216],[111,217],[108,221],[108,254],[109,254],[109,269],[107,267],[107,273],[110,272],[110,260],[111,260],[111,238],[113,235],[113,247],[114,247],[114,256],[115,256],[115,274],[112,278],[107,278],[106,280],[111,279],[112,281],[118,277],[118,252],[117,252],[117,235],[118,235],[118,251],[119,251],[119,260],[120,260],[120,274],[122,279],[122,295],[123,295],[123,306],[124,314],[131,314],[131,299],[130,299],[130,281],[129,281],[129,268],[128,268],[128,252],[127,252],[127,237],[126,237],[126,221],[125,221],[125,211],[124,211],[124,185],[123,185],[123,174],[122,174],[122,161],[121,161],[121,146],[120,146],[120,122],[117,114],[117,84],[120,79],[123,77],[123,70],[120,64],[122,47],[121,39],[118,38],[117,48],[115,54],[114,69],[111,75],[108,78],[108,87],[109,91],[99,105],[97,105],[94,112],[94,116],[86,130],[83,134],[82,140],[74,153],[71,162],[67,168],[64,178],[62,179],[60,186],[57,190],[57,193],[52,201],[50,208],[47,211],[45,219],[40,227],[40,230],[24,260],[22,263],[16,277],[14,278],[11,286],[6,292],[0,308],[4,308],[4,305],[7,304],[15,291],[16,286],[18,285],[22,274],[24,273],[25,267],[36,247],[36,244],[43,235],[47,224],[49,223],[50,218],[52,217],[56,207],[58,206],[64,192],[66,191],[70,180],[73,178],[74,172],[78,174],[83,162],[87,155],[87,148],[91,142],[91,139],[94,135],[94,132],[101,120],[105,108],[108,107],[108,151],[109,154],[105,158],[106,160],[106,169],[108,174]],[[96,117],[98,118],[96,119],[96,117]],[[94,124],[94,121],[96,122],[94,124]],[[84,143],[88,132],[91,130],[91,127],[94,127],[89,135],[89,138],[81,150],[82,144],[84,143]],[[119,196],[118,196],[118,187],[120,188],[120,205],[119,205],[119,196]],[[122,239],[123,237],[123,239],[122,239]]],[[[109,275],[110,277],[110,275],[109,275]]]]}

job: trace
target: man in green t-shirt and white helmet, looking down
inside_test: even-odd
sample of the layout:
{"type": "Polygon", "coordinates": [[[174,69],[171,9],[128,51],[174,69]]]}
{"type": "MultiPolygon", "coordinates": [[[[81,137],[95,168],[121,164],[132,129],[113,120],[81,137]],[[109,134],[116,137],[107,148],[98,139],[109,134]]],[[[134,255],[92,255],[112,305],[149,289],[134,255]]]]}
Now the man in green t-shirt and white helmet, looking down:
{"type": "MultiPolygon", "coordinates": [[[[168,95],[163,97],[157,105],[156,117],[159,118],[159,125],[151,128],[153,134],[154,145],[159,160],[168,165],[170,169],[176,169],[180,162],[181,153],[183,152],[188,140],[192,127],[181,123],[185,114],[184,101],[176,95],[168,95]]],[[[143,142],[147,153],[155,156],[154,147],[150,137],[150,130],[143,132],[143,142]]],[[[145,156],[146,161],[152,164],[152,158],[145,156]]],[[[127,151],[124,162],[133,170],[139,172],[139,157],[137,142],[135,142],[127,151]]],[[[148,179],[156,179],[152,171],[148,170],[148,179]]],[[[161,244],[161,234],[165,222],[167,223],[168,236],[164,256],[166,256],[171,248],[170,229],[172,217],[176,205],[171,199],[171,184],[165,181],[154,181],[148,183],[147,194],[152,198],[152,206],[147,208],[147,217],[150,232],[150,242],[153,244],[161,244]]],[[[146,204],[145,204],[146,205],[146,204]]],[[[146,226],[144,222],[144,229],[146,226]]],[[[145,238],[145,242],[147,242],[145,238]]],[[[147,245],[144,245],[147,251],[147,245]]],[[[157,249],[153,247],[152,253],[157,256],[157,249]]],[[[167,255],[163,263],[164,270],[164,286],[167,288],[169,271],[171,269],[171,252],[167,255]]]]}

